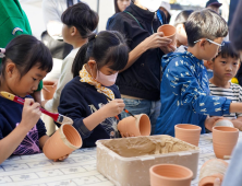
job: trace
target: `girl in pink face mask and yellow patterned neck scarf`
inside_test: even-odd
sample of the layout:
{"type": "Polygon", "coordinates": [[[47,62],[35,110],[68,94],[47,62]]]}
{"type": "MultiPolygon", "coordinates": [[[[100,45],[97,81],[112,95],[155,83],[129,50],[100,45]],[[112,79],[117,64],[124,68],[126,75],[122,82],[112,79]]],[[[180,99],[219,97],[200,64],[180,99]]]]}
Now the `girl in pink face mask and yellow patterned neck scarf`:
{"type": "Polygon", "coordinates": [[[58,112],[73,119],[83,148],[119,137],[117,116],[125,105],[114,82],[128,58],[128,46],[118,32],[93,35],[78,50],[72,66],[74,79],[64,86],[58,112]]]}

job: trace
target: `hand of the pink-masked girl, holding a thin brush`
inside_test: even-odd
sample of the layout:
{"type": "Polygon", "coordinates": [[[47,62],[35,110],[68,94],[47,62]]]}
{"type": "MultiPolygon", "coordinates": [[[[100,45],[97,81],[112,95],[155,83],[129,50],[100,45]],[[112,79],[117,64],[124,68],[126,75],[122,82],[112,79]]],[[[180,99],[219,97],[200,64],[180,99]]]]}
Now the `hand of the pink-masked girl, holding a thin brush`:
{"type": "Polygon", "coordinates": [[[101,109],[105,117],[108,118],[119,115],[124,109],[124,106],[125,104],[123,103],[122,98],[116,98],[101,107],[101,109]]]}

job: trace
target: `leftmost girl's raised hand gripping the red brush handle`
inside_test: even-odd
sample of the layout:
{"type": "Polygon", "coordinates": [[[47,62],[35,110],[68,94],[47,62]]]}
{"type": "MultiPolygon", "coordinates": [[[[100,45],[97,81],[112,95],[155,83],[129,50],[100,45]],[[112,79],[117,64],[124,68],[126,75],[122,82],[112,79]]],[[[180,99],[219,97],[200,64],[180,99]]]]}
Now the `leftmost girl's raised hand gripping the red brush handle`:
{"type": "Polygon", "coordinates": [[[25,125],[28,130],[37,124],[41,116],[39,107],[40,104],[35,103],[33,98],[25,98],[21,124],[25,125]]]}

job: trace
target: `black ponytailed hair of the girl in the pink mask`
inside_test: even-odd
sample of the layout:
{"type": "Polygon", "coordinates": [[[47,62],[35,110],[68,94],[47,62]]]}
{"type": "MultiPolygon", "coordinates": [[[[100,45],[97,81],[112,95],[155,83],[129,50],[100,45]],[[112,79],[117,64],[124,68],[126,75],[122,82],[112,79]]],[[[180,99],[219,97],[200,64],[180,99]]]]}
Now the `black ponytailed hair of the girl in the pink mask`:
{"type": "Polygon", "coordinates": [[[73,77],[77,77],[83,66],[93,58],[97,62],[97,69],[106,65],[119,71],[122,70],[129,59],[129,48],[123,36],[116,31],[102,31],[98,35],[93,34],[88,43],[83,45],[72,66],[73,77]]]}

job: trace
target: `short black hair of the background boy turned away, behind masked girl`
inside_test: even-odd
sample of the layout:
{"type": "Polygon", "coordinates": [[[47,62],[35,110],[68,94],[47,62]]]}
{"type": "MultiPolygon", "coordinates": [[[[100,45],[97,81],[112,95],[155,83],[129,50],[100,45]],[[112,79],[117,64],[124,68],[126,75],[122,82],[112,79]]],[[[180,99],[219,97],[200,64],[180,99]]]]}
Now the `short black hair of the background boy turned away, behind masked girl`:
{"type": "Polygon", "coordinates": [[[75,26],[83,38],[87,38],[97,27],[99,16],[86,3],[78,2],[68,8],[61,15],[68,26],[75,26]]]}

